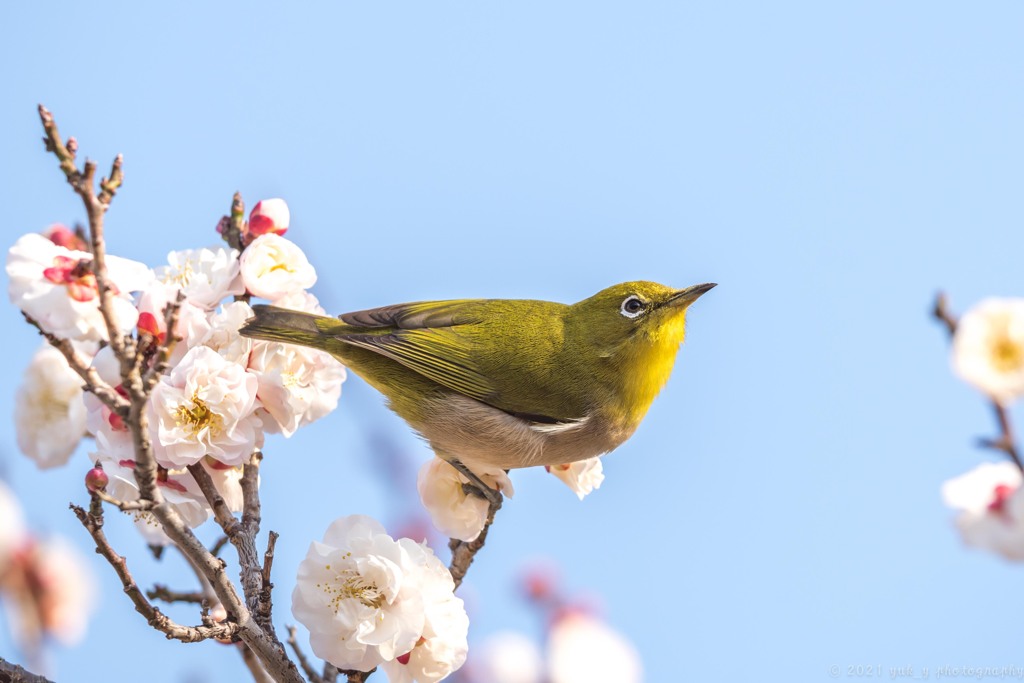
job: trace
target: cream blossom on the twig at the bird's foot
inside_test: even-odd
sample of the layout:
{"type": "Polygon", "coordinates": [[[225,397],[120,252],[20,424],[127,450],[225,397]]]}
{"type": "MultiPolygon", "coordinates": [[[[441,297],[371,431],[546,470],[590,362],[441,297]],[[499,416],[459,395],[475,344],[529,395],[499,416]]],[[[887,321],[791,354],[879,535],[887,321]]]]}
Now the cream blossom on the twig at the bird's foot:
{"type": "MultiPolygon", "coordinates": [[[[509,498],[515,494],[512,481],[501,468],[474,470],[484,483],[509,498]]],[[[423,464],[416,479],[420,500],[430,513],[437,530],[460,541],[473,541],[487,519],[487,501],[466,492],[469,479],[444,460],[434,457],[423,464]]]]}

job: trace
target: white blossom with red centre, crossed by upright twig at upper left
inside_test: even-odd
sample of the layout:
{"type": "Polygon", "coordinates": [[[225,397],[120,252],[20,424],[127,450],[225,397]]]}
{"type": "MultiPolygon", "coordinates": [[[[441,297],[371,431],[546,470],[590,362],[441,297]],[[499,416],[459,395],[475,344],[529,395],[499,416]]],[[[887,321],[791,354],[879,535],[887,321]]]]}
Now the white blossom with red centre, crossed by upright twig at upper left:
{"type": "MultiPolygon", "coordinates": [[[[153,272],[142,263],[110,255],[106,268],[114,317],[128,333],[138,318],[130,293],[145,289],[153,272]]],[[[7,276],[10,302],[47,332],[65,339],[106,339],[92,254],[60,247],[42,234],[26,234],[7,252],[7,276]]]]}

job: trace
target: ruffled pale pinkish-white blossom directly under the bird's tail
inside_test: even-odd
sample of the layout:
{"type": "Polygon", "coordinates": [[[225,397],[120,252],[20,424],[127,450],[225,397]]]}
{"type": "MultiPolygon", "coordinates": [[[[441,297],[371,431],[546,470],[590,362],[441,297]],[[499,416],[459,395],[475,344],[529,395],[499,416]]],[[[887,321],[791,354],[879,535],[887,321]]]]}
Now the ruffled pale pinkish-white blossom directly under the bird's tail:
{"type": "Polygon", "coordinates": [[[345,367],[326,351],[296,344],[253,342],[249,370],[256,374],[263,426],[291,436],[338,407],[345,367]]]}

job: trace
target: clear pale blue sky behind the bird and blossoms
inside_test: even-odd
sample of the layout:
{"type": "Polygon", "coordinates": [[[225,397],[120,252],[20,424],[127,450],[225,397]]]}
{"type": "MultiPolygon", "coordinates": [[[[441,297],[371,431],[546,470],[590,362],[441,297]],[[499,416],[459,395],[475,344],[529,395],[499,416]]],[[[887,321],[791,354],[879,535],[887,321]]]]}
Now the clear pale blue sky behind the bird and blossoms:
{"type": "MultiPolygon", "coordinates": [[[[536,627],[514,581],[550,558],[570,590],[600,596],[649,681],[1022,664],[1022,567],[964,549],[939,499],[994,459],[973,445],[994,426],[928,317],[940,288],[959,309],[1024,291],[1019,3],[0,12],[8,244],[82,218],[39,142],[44,102],[83,153],[124,153],[111,249],[148,263],[212,243],[239,189],[288,200],[334,312],[720,284],[601,490],[580,503],[543,472],[514,476],[467,586],[472,639],[536,627]]],[[[9,306],[0,324],[10,416],[37,339],[9,306]]],[[[31,520],[87,552],[67,511],[85,452],[40,473],[0,434],[31,520]]],[[[380,434],[429,455],[352,380],[337,413],[268,444],[280,622],[332,519],[396,524],[415,509],[408,478],[374,467],[380,434]]],[[[185,582],[127,529],[115,539],[140,582],[185,582]]],[[[94,564],[101,611],[83,647],[55,651],[56,675],[242,674],[227,648],[146,632],[94,564]]]]}

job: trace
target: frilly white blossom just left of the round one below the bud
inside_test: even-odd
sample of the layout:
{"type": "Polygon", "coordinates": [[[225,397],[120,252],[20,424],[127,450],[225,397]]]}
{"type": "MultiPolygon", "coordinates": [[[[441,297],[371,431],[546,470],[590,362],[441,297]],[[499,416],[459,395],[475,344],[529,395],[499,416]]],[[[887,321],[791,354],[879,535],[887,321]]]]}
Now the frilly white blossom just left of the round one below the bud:
{"type": "Polygon", "coordinates": [[[184,292],[193,304],[210,310],[221,299],[244,293],[239,252],[226,247],[172,251],[168,265],[156,269],[157,278],[184,292]]]}

